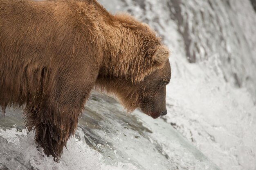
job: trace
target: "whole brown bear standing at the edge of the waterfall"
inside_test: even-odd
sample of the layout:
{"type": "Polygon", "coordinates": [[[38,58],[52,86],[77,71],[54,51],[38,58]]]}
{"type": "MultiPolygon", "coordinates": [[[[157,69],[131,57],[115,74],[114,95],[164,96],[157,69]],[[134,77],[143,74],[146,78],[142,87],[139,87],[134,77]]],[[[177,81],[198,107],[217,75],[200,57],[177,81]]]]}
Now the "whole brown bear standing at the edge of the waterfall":
{"type": "Polygon", "coordinates": [[[24,106],[47,156],[61,157],[94,87],[165,115],[168,56],[147,24],[96,0],[0,0],[0,107],[24,106]]]}

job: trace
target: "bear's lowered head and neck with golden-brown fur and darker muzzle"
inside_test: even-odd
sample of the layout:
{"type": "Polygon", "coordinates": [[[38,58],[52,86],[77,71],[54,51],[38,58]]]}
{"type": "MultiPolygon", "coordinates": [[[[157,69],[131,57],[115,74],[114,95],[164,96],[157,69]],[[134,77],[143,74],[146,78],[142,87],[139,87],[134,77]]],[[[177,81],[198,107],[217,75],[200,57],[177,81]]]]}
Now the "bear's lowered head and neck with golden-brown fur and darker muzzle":
{"type": "Polygon", "coordinates": [[[169,49],[147,24],[126,14],[115,15],[118,28],[109,34],[108,52],[96,88],[117,96],[129,111],[158,118],[167,114],[166,85],[171,78],[169,49]]]}

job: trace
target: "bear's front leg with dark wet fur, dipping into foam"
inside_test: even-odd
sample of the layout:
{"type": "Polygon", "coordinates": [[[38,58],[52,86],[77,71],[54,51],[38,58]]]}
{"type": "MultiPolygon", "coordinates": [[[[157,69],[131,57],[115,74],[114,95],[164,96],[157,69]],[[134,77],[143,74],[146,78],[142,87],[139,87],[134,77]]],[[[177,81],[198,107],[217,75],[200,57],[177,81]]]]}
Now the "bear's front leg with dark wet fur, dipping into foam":
{"type": "Polygon", "coordinates": [[[47,156],[57,159],[61,158],[63,147],[76,131],[97,78],[97,74],[88,74],[92,70],[90,67],[80,69],[80,63],[68,66],[49,74],[54,75],[53,78],[43,79],[40,95],[35,101],[29,101],[25,109],[27,129],[34,129],[36,144],[43,148],[47,156]]]}

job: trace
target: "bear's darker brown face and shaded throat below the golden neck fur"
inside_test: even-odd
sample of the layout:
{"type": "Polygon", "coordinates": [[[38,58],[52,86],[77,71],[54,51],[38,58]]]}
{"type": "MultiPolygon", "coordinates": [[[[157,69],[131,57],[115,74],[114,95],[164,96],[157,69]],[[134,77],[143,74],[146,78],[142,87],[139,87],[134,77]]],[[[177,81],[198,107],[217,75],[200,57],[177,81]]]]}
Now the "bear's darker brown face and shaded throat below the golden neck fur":
{"type": "Polygon", "coordinates": [[[145,76],[143,81],[132,83],[125,78],[99,74],[95,87],[99,91],[117,96],[128,112],[140,108],[148,116],[158,118],[161,115],[159,111],[166,110],[166,85],[170,79],[171,67],[167,59],[162,68],[145,76]]]}

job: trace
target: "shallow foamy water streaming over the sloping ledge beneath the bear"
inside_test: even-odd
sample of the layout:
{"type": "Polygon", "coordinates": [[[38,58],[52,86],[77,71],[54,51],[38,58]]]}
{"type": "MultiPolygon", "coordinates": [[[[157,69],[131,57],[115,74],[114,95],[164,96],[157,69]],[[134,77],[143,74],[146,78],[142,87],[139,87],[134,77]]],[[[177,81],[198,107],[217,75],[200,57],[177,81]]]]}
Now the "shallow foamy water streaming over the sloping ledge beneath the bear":
{"type": "Polygon", "coordinates": [[[17,125],[11,120],[12,110],[8,110],[3,123],[6,130],[0,131],[2,168],[218,169],[162,119],[154,120],[139,111],[126,115],[115,100],[97,93],[86,106],[60,163],[36,148],[34,133],[27,135],[24,130],[10,128],[17,125]]]}

